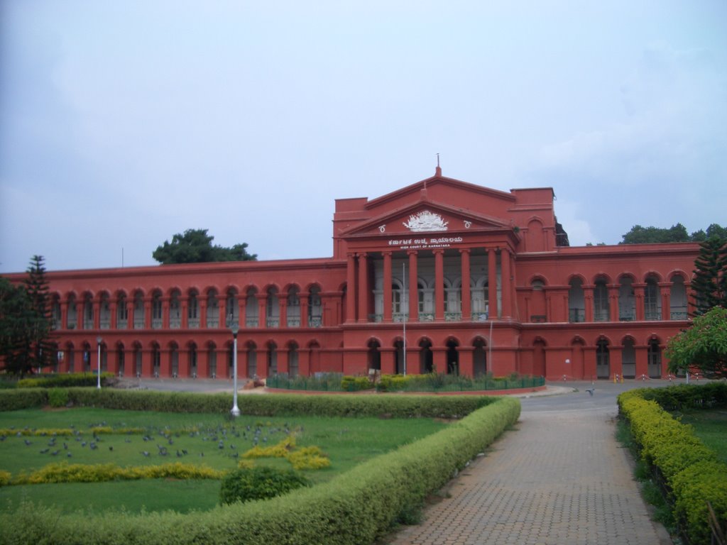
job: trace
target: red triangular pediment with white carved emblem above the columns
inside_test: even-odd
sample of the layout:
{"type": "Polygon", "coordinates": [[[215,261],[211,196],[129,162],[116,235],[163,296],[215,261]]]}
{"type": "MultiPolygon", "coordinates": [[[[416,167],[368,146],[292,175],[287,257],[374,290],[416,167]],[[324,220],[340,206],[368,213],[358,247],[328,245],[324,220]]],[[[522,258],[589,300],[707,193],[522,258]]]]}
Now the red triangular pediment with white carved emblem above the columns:
{"type": "Polygon", "coordinates": [[[345,230],[342,236],[409,235],[463,231],[502,230],[510,225],[502,219],[444,203],[420,201],[389,211],[345,230]]]}

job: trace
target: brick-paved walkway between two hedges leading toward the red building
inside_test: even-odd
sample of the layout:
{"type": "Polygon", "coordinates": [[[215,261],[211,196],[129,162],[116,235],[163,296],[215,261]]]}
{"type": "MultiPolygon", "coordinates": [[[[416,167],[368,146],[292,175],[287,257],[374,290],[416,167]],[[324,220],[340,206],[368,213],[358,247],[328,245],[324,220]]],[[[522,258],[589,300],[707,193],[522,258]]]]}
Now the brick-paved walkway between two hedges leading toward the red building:
{"type": "Polygon", "coordinates": [[[651,522],[630,454],[614,438],[615,396],[628,386],[597,383],[593,396],[586,387],[553,401],[523,399],[516,431],[461,472],[422,525],[389,543],[671,544],[651,522]]]}

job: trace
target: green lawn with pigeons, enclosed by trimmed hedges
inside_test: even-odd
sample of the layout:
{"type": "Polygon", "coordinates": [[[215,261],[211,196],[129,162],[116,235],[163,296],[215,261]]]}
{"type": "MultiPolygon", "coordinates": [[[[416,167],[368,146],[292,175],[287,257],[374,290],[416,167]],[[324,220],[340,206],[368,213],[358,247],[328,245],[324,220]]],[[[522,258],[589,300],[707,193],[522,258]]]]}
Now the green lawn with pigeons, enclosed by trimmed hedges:
{"type": "MultiPolygon", "coordinates": [[[[295,434],[298,446],[316,445],[331,459],[332,467],[305,472],[314,483],[321,483],[348,471],[361,461],[411,443],[443,426],[446,424],[433,419],[240,416],[230,421],[219,414],[96,408],[0,412],[0,429],[12,428],[12,433],[0,442],[0,469],[17,475],[60,461],[73,464],[114,463],[122,467],[182,461],[214,469],[233,469],[238,461],[236,456],[252,448],[256,439],[259,446],[274,445],[290,432],[295,434]],[[142,428],[144,431],[100,434],[95,440],[90,431],[92,426],[115,430],[142,428]],[[70,437],[18,436],[17,432],[26,427],[73,427],[78,433],[70,437]],[[31,444],[27,445],[26,440],[31,444]],[[93,450],[91,443],[96,446],[93,450]]],[[[283,459],[260,459],[256,463],[289,467],[283,459]]],[[[186,512],[210,509],[217,503],[218,491],[219,482],[214,480],[13,485],[0,488],[0,509],[15,509],[20,501],[29,499],[56,504],[64,512],[121,508],[136,512],[142,507],[147,511],[174,509],[186,512]]]]}

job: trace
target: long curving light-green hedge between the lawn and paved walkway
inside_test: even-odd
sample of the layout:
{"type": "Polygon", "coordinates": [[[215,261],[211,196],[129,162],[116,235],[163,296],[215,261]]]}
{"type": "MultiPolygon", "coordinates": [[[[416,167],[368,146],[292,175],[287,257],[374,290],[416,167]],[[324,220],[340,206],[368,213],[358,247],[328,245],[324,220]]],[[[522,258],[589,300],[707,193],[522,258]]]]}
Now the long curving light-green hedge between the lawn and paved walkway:
{"type": "MultiPolygon", "coordinates": [[[[379,403],[377,397],[364,397],[369,403],[379,403]]],[[[398,403],[397,397],[381,397],[398,403]]],[[[314,405],[309,396],[299,399],[314,405]]],[[[427,400],[441,403],[438,397],[428,397],[416,402],[418,410],[438,412],[425,408],[427,400]]],[[[292,406],[292,400],[289,403],[292,406]]],[[[520,415],[520,402],[514,398],[497,398],[483,405],[436,434],[370,459],[329,483],[286,496],[188,514],[61,516],[57,509],[24,505],[12,514],[0,514],[0,542],[369,545],[412,505],[422,504],[427,493],[451,479],[455,470],[465,467],[520,415]]]]}

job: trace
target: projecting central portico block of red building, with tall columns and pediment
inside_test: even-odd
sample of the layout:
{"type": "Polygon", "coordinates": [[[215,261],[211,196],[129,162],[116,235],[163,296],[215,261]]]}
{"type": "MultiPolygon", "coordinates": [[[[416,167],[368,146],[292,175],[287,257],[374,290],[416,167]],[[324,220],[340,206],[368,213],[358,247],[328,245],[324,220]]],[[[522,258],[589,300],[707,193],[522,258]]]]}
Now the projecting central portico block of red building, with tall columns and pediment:
{"type": "Polygon", "coordinates": [[[442,177],[439,168],[372,201],[337,201],[334,257],[347,263],[348,370],[402,372],[406,344],[412,372],[484,371],[493,322],[500,345],[516,342],[516,252],[526,241],[539,251],[555,246],[552,203],[550,189],[503,193],[442,177]],[[515,227],[513,217],[523,214],[537,220],[525,224],[531,233],[515,227]],[[461,339],[462,331],[472,338],[461,339]]]}

